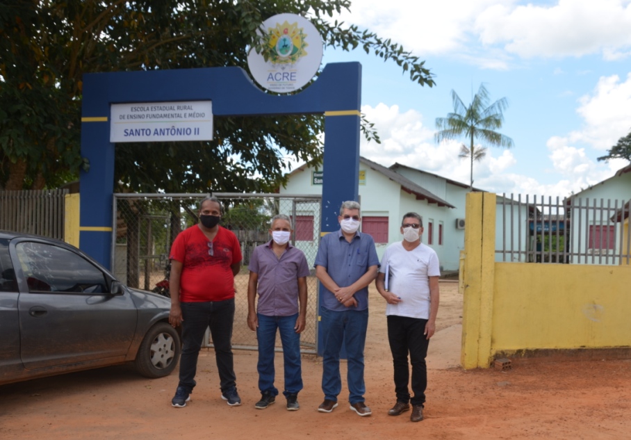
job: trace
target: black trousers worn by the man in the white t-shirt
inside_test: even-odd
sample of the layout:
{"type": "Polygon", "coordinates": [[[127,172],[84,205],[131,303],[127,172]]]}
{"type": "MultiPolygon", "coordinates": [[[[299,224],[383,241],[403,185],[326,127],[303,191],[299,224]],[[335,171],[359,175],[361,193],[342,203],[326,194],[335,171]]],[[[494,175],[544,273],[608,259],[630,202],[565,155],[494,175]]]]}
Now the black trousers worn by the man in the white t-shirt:
{"type": "Polygon", "coordinates": [[[394,364],[394,382],[397,401],[412,405],[425,403],[425,389],[427,388],[427,347],[429,340],[425,332],[426,319],[408,318],[407,316],[388,316],[388,341],[394,364]],[[409,364],[412,364],[412,392],[410,398],[409,364]]]}

